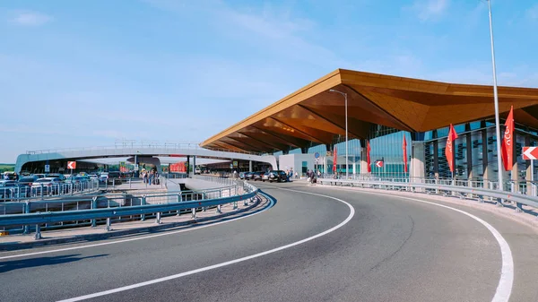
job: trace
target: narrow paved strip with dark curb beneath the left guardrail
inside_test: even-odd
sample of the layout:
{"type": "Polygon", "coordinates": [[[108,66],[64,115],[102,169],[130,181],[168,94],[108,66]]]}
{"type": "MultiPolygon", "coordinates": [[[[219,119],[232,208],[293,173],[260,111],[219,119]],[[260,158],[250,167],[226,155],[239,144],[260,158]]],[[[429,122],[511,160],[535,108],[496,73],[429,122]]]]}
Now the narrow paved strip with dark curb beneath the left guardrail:
{"type": "Polygon", "coordinates": [[[96,228],[82,227],[73,229],[56,229],[41,231],[41,239],[35,240],[35,233],[27,235],[9,235],[0,237],[0,251],[17,250],[31,248],[35,246],[48,246],[76,241],[93,241],[109,237],[120,237],[136,233],[152,233],[163,229],[178,228],[191,224],[209,221],[229,219],[232,215],[241,213],[246,214],[250,211],[257,211],[269,204],[269,201],[261,195],[257,195],[256,202],[237,203],[238,209],[233,210],[232,203],[226,203],[221,206],[221,214],[216,212],[216,208],[207,211],[196,211],[196,218],[191,218],[191,213],[183,213],[161,218],[161,224],[156,223],[156,219],[146,219],[144,221],[117,222],[112,223],[110,231],[106,230],[105,225],[98,225],[96,228]]]}

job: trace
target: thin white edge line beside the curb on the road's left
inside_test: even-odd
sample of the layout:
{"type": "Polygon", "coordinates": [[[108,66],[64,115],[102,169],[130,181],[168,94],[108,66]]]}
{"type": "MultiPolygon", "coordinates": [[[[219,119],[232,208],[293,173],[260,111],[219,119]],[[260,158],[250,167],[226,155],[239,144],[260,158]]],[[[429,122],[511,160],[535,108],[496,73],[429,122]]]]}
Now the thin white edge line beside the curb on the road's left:
{"type": "Polygon", "coordinates": [[[222,223],[228,223],[228,222],[235,221],[235,220],[242,220],[242,219],[247,218],[247,217],[252,217],[252,216],[254,216],[256,214],[259,214],[259,213],[261,213],[263,211],[266,211],[266,210],[268,210],[270,208],[271,208],[271,206],[268,206],[264,210],[256,211],[253,214],[247,214],[245,216],[241,216],[239,218],[234,218],[234,219],[230,219],[230,220],[214,222],[214,223],[210,223],[210,224],[207,224],[207,225],[204,225],[204,226],[199,226],[199,227],[195,226],[195,227],[190,228],[190,229],[180,229],[180,230],[175,230],[175,231],[170,231],[170,232],[165,231],[164,233],[155,234],[155,235],[148,235],[148,236],[143,236],[143,237],[134,237],[134,238],[121,239],[121,240],[116,240],[116,241],[108,241],[108,242],[102,242],[102,243],[92,244],[92,245],[88,245],[88,246],[73,246],[73,247],[65,247],[65,248],[59,248],[59,249],[47,250],[47,251],[41,251],[41,252],[34,252],[34,253],[27,253],[27,254],[8,255],[8,256],[0,257],[0,260],[12,259],[12,258],[20,258],[20,257],[26,257],[26,256],[32,256],[32,255],[43,255],[43,254],[51,254],[51,253],[72,251],[72,250],[76,250],[76,249],[95,247],[95,246],[116,245],[118,243],[125,243],[125,242],[130,242],[130,241],[143,240],[143,239],[161,237],[161,236],[169,236],[169,235],[174,235],[174,234],[178,234],[178,233],[188,232],[188,231],[191,231],[191,230],[205,229],[205,228],[209,228],[209,227],[213,227],[213,226],[218,226],[218,225],[220,225],[222,223]]]}

